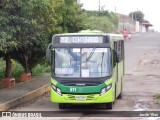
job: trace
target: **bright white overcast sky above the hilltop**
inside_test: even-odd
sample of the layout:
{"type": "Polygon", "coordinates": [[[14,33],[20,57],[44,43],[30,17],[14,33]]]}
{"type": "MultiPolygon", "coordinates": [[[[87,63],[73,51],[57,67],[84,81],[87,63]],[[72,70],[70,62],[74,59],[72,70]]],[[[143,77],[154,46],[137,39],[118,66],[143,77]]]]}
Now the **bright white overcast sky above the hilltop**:
{"type": "MultiPolygon", "coordinates": [[[[99,10],[99,0],[80,0],[86,10],[99,10]]],[[[140,10],[156,31],[160,31],[160,0],[100,0],[105,10],[128,15],[130,12],[140,10]]]]}

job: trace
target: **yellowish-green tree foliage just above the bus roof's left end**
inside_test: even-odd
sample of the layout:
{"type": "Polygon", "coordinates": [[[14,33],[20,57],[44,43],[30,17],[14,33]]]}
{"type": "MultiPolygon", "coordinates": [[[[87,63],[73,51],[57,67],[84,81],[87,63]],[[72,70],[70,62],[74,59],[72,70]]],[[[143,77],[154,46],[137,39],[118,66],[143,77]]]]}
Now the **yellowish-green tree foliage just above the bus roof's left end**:
{"type": "Polygon", "coordinates": [[[76,0],[57,0],[55,8],[56,33],[78,32],[85,29],[84,12],[76,0]]]}

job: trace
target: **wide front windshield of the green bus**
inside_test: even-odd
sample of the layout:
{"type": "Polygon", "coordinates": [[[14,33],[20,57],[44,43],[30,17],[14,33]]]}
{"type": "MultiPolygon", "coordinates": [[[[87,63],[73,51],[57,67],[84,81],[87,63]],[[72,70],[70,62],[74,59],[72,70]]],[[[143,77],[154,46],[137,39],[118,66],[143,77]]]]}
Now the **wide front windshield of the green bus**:
{"type": "Polygon", "coordinates": [[[110,48],[55,48],[52,74],[63,78],[111,75],[110,48]]]}

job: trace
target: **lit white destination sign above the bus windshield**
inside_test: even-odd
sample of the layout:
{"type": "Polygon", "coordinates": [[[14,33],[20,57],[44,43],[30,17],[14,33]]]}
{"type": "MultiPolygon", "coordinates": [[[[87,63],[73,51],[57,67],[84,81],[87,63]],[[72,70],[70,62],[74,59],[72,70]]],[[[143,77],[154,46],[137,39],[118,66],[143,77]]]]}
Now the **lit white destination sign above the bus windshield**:
{"type": "Polygon", "coordinates": [[[103,36],[63,36],[60,43],[103,43],[103,36]]]}

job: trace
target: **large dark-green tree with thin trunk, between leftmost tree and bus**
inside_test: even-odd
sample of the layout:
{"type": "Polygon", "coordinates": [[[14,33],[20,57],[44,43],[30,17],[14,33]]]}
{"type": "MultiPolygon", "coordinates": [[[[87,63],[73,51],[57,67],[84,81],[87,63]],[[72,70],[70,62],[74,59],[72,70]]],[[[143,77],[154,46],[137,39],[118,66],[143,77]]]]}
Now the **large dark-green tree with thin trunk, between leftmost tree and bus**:
{"type": "Polygon", "coordinates": [[[31,72],[32,67],[45,56],[50,34],[55,31],[54,4],[54,0],[30,0],[23,2],[17,11],[23,18],[18,19],[20,31],[16,36],[21,44],[18,54],[13,57],[22,64],[26,73],[31,72]]]}

